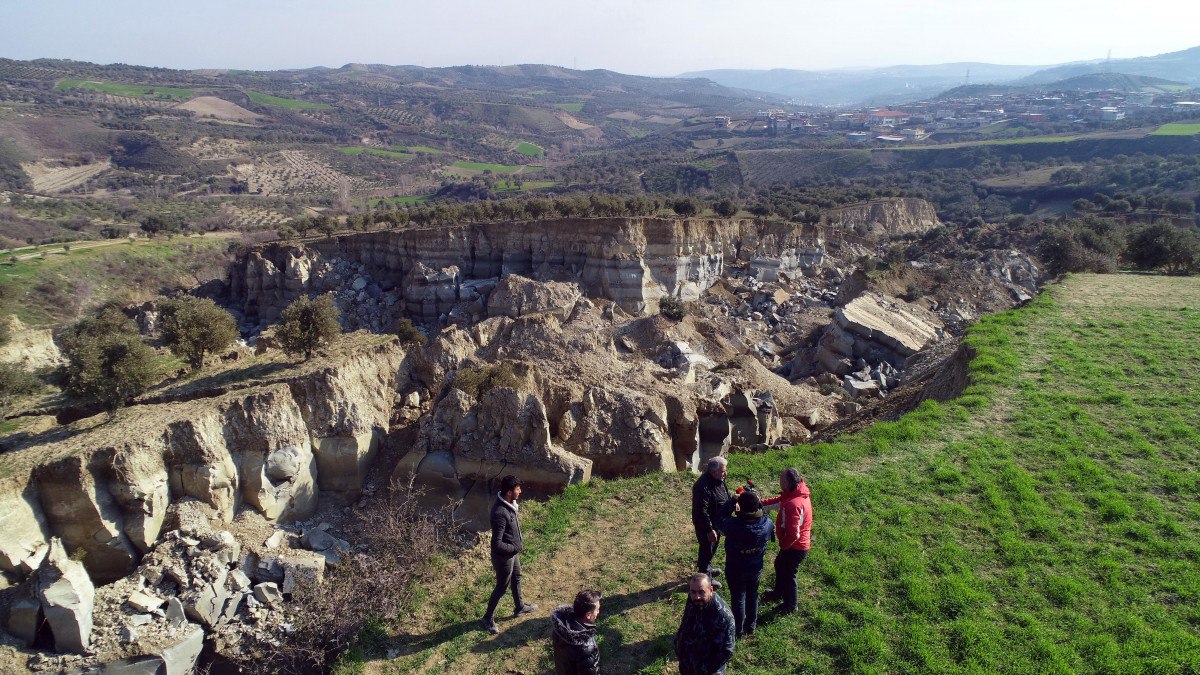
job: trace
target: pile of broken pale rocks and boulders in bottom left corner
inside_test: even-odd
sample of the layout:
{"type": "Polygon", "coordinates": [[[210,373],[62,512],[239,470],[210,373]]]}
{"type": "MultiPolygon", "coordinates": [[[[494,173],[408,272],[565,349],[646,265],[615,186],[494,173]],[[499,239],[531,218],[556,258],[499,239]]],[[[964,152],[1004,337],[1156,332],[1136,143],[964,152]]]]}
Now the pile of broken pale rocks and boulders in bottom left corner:
{"type": "Polygon", "coordinates": [[[220,522],[212,515],[194,500],[172,504],[175,528],[136,572],[101,587],[52,539],[36,571],[0,607],[4,629],[23,646],[59,652],[26,652],[25,667],[185,674],[206,644],[215,655],[245,658],[252,644],[287,638],[289,598],[322,583],[326,567],[352,549],[328,522],[312,521],[242,545],[230,531],[212,527],[220,522]]]}

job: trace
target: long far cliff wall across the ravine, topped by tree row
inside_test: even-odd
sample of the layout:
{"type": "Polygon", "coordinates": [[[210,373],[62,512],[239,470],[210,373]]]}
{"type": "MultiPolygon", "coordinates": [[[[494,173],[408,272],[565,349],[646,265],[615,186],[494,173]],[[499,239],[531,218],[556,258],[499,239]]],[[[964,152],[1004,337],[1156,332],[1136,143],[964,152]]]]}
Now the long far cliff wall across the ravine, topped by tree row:
{"type": "MultiPolygon", "coordinates": [[[[920,199],[850,207],[836,219],[836,235],[857,240],[937,226],[920,199]]],[[[793,223],[650,217],[377,232],[257,249],[230,273],[230,289],[246,322],[259,327],[304,293],[347,286],[354,301],[384,310],[382,323],[401,313],[478,321],[488,316],[496,281],[511,274],[577,283],[587,297],[642,313],[667,295],[697,299],[727,265],[748,265],[762,280],[815,274],[826,237],[827,228],[793,223]]]]}

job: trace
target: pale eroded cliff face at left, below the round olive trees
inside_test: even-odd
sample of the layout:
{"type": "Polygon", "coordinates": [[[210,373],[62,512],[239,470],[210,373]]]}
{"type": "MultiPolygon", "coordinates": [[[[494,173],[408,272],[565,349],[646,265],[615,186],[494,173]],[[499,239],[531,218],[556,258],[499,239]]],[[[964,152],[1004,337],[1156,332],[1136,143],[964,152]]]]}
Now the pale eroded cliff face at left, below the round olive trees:
{"type": "Polygon", "coordinates": [[[134,406],[0,455],[0,569],[26,575],[59,537],[108,583],[150,550],[179,500],[228,522],[241,506],[276,521],[306,518],[320,491],[355,497],[404,359],[395,340],[372,341],[271,383],[134,406]]]}

